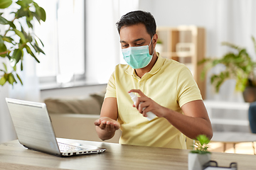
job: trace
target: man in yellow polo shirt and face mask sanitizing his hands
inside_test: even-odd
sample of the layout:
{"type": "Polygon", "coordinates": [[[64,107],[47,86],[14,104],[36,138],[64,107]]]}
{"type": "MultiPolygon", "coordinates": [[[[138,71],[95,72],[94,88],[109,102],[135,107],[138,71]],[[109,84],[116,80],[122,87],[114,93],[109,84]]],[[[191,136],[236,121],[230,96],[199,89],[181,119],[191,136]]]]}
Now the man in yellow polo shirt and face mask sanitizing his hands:
{"type": "Polygon", "coordinates": [[[183,64],[164,59],[156,47],[156,22],[151,13],[132,11],[117,22],[122,53],[107,84],[100,119],[100,139],[119,128],[121,144],[186,149],[186,137],[212,137],[208,113],[191,72],[183,64]],[[138,94],[133,104],[130,92],[138,94]],[[133,107],[134,108],[133,108],[133,107]],[[151,111],[157,117],[147,120],[151,111]]]}

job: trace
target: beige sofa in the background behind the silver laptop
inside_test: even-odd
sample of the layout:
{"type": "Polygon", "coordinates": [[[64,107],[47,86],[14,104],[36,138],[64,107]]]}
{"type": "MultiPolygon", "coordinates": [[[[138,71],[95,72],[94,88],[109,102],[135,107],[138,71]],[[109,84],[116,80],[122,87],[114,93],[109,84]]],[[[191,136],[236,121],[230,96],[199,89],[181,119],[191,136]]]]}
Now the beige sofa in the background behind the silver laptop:
{"type": "MultiPolygon", "coordinates": [[[[44,103],[53,124],[56,137],[102,142],[94,122],[100,118],[104,94],[90,94],[85,98],[46,98],[44,103]]],[[[122,131],[104,142],[118,143],[122,131]]]]}

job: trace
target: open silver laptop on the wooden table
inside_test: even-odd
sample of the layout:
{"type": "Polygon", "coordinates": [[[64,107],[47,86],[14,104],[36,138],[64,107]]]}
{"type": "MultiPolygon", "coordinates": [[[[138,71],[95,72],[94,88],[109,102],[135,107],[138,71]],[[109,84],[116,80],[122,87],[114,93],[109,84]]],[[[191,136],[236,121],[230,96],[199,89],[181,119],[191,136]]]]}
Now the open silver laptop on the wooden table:
{"type": "Polygon", "coordinates": [[[21,101],[13,98],[6,98],[6,103],[18,141],[28,149],[59,157],[101,153],[106,150],[77,142],[69,144],[56,138],[45,103],[21,101]]]}

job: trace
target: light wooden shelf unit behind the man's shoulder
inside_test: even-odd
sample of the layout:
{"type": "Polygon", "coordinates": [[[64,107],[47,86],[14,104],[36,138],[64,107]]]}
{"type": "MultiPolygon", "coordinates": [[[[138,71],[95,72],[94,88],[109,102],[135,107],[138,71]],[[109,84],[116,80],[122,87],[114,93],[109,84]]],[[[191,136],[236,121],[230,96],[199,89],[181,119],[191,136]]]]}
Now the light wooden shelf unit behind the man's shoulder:
{"type": "Polygon", "coordinates": [[[200,78],[203,65],[198,65],[206,53],[205,29],[197,26],[158,27],[156,34],[162,42],[160,55],[186,64],[205,99],[206,81],[200,78]]]}

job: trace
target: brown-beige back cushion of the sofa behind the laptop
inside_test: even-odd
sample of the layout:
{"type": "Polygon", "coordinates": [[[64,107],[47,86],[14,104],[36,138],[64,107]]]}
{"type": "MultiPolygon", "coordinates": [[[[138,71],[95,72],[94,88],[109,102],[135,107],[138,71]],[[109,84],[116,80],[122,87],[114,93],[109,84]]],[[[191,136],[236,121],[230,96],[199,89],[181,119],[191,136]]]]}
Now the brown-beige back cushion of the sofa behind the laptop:
{"type": "Polygon", "coordinates": [[[76,113],[100,115],[101,105],[92,96],[87,98],[47,98],[45,101],[48,113],[76,113]]]}

